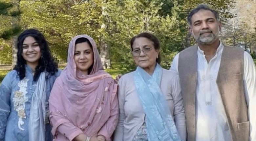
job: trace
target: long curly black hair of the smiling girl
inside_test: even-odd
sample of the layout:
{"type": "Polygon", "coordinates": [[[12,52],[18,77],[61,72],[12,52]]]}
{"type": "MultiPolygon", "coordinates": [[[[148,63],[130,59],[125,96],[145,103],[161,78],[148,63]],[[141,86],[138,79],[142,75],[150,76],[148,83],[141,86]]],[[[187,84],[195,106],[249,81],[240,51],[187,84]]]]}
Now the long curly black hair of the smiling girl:
{"type": "Polygon", "coordinates": [[[24,40],[29,36],[33,37],[35,41],[39,44],[40,52],[42,54],[41,58],[39,59],[38,66],[35,68],[33,81],[37,81],[41,72],[43,72],[44,70],[48,72],[46,75],[46,78],[48,78],[49,75],[54,75],[58,71],[58,64],[54,62],[54,59],[51,55],[51,51],[49,49],[49,45],[45,40],[44,35],[37,29],[32,28],[32,29],[24,30],[18,37],[17,62],[16,62],[16,65],[14,66],[14,70],[17,71],[19,79],[20,80],[24,79],[26,74],[25,64],[27,64],[27,62],[22,57],[22,51],[23,51],[22,44],[24,40]]]}

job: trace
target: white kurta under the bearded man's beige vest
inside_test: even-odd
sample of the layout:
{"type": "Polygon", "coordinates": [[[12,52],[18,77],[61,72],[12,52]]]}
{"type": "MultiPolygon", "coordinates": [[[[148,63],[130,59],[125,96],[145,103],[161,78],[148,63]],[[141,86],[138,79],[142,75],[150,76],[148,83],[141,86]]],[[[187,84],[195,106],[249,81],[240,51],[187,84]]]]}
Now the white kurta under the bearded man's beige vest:
{"type": "MultiPolygon", "coordinates": [[[[223,52],[221,43],[215,56],[207,63],[203,50],[197,51],[196,141],[230,141],[224,106],[216,83],[223,52]]],[[[178,72],[179,54],[170,70],[178,72]]],[[[256,140],[256,68],[251,56],[244,53],[244,86],[250,121],[250,141],[256,140]]],[[[235,104],[235,103],[234,103],[235,104]]],[[[189,117],[188,117],[189,118],[189,117]]]]}

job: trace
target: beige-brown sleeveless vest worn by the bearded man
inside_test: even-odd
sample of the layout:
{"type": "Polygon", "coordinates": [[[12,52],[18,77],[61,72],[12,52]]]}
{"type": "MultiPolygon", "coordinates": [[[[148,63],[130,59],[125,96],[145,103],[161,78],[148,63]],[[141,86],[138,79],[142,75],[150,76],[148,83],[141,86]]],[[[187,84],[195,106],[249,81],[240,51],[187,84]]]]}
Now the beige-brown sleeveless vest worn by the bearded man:
{"type": "MultiPolygon", "coordinates": [[[[181,51],[179,55],[178,69],[188,141],[195,141],[196,133],[197,49],[197,45],[194,45],[181,51]]],[[[216,83],[233,141],[249,140],[248,109],[244,95],[243,74],[244,50],[224,45],[216,83]]]]}

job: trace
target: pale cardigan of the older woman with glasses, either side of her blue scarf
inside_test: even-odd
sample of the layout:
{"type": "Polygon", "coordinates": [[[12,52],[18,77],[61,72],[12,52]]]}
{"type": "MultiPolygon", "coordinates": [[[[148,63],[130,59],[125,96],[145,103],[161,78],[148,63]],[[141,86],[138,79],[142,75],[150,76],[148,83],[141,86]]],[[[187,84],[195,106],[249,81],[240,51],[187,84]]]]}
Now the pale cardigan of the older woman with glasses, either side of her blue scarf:
{"type": "MultiPolygon", "coordinates": [[[[131,141],[145,117],[134,84],[134,72],[122,76],[118,85],[119,121],[114,141],[131,141]]],[[[163,69],[160,88],[166,97],[181,139],[185,141],[185,113],[178,74],[175,71],[163,69]]]]}

